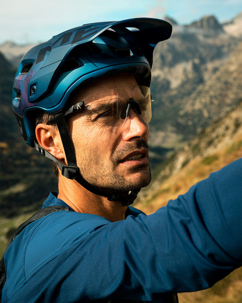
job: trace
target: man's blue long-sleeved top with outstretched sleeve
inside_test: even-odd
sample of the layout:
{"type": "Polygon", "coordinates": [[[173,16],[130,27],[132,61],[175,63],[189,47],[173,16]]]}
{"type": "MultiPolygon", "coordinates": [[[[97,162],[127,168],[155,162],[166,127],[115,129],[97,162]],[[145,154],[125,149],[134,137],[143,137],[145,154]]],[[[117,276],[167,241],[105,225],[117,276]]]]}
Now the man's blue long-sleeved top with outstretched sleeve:
{"type": "MultiPolygon", "coordinates": [[[[212,286],[241,266],[241,168],[227,165],[149,216],[58,211],[31,223],[5,254],[3,302],[152,301],[212,286]]],[[[66,206],[53,193],[50,205],[66,206]]]]}

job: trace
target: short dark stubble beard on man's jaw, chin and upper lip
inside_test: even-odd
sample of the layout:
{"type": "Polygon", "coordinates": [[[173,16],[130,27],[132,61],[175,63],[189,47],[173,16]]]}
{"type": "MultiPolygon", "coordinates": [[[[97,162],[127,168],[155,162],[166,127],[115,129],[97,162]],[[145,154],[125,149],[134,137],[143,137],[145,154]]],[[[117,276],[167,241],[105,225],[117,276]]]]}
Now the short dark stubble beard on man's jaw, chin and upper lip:
{"type": "MultiPolygon", "coordinates": [[[[123,155],[141,148],[148,149],[148,145],[144,139],[138,142],[130,142],[125,147],[117,148],[112,155],[112,160],[109,163],[105,163],[105,165],[103,164],[100,152],[92,151],[92,153],[89,153],[88,158],[85,157],[85,161],[81,161],[85,165],[79,165],[80,173],[94,187],[111,193],[126,192],[146,187],[151,181],[149,161],[146,164],[131,167],[127,165],[126,172],[128,171],[129,178],[125,178],[122,172],[118,172],[116,169],[118,166],[117,163],[119,163],[123,155]]],[[[147,157],[149,156],[147,155],[147,157]]]]}

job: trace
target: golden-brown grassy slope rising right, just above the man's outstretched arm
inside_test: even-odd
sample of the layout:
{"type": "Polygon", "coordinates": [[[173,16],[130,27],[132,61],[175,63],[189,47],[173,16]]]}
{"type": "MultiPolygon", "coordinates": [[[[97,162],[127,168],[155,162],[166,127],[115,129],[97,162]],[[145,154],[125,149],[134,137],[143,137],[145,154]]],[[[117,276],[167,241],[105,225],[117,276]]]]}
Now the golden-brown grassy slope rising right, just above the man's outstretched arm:
{"type": "Polygon", "coordinates": [[[136,207],[152,213],[185,193],[209,173],[242,156],[242,102],[224,118],[204,128],[185,147],[153,171],[136,207]]]}

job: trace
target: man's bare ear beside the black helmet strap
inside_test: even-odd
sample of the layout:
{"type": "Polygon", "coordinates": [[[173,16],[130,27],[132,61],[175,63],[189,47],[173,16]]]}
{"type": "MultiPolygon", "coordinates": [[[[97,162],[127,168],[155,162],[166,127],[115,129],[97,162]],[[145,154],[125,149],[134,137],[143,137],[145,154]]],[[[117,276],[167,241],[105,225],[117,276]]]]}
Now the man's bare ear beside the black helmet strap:
{"type": "Polygon", "coordinates": [[[60,162],[65,162],[64,148],[57,128],[54,128],[53,125],[39,123],[35,128],[35,136],[41,147],[60,162]]]}

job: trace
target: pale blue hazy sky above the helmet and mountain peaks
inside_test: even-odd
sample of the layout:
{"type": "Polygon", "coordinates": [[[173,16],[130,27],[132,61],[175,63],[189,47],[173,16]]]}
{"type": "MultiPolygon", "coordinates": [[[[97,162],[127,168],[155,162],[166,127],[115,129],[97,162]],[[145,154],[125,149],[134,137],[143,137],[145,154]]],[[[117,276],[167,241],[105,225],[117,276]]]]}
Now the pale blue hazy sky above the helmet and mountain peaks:
{"type": "Polygon", "coordinates": [[[0,44],[43,42],[92,22],[167,15],[183,25],[214,15],[222,23],[241,11],[241,0],[8,0],[1,4],[0,44]]]}

